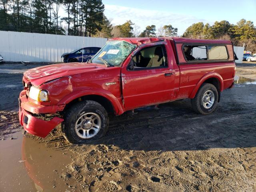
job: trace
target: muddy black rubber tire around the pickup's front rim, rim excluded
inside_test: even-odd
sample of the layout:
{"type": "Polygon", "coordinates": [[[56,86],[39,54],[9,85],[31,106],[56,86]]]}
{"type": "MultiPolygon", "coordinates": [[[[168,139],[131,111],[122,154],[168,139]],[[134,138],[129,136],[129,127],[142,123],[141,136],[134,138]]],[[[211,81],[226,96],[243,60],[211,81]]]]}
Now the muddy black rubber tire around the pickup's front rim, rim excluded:
{"type": "Polygon", "coordinates": [[[105,108],[100,105],[98,102],[86,100],[82,102],[78,102],[74,104],[71,108],[69,108],[64,116],[64,122],[61,124],[62,134],[64,138],[72,143],[72,144],[82,144],[94,140],[98,140],[102,136],[104,136],[108,129],[108,113],[105,108]],[[100,117],[100,129],[98,133],[92,138],[81,138],[76,132],[76,122],[78,119],[86,114],[86,113],[94,113],[100,117]]]}

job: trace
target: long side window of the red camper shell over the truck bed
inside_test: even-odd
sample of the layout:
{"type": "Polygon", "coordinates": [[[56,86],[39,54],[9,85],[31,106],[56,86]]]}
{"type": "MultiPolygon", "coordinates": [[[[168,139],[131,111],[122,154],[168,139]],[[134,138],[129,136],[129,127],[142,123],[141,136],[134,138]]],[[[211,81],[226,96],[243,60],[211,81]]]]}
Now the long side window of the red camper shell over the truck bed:
{"type": "Polygon", "coordinates": [[[228,49],[224,44],[184,44],[182,51],[186,62],[216,62],[229,59],[228,49]]]}

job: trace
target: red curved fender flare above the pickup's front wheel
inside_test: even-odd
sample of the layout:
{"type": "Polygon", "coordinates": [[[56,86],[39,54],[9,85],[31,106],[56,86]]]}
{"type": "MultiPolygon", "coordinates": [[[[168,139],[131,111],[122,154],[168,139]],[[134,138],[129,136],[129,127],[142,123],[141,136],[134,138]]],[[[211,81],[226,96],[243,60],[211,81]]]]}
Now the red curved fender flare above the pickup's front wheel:
{"type": "Polygon", "coordinates": [[[124,113],[124,109],[122,107],[121,102],[111,92],[104,90],[104,89],[100,89],[100,88],[87,88],[84,90],[72,92],[72,93],[68,94],[67,96],[65,96],[62,100],[60,100],[58,105],[59,104],[68,104],[69,102],[71,102],[77,98],[80,98],[82,96],[88,96],[88,95],[102,96],[111,102],[111,104],[114,108],[114,111],[117,115],[124,113]]]}

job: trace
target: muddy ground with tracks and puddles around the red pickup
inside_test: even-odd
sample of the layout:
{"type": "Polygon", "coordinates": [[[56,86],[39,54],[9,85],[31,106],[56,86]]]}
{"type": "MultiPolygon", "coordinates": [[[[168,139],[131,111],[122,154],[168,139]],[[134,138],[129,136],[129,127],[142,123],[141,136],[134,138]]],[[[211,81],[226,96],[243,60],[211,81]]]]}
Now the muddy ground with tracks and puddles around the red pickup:
{"type": "Polygon", "coordinates": [[[225,90],[210,115],[190,100],[141,108],[111,117],[106,136],[86,145],[66,142],[59,126],[23,136],[22,74],[0,73],[0,191],[256,191],[255,68],[237,65],[251,80],[225,90]]]}

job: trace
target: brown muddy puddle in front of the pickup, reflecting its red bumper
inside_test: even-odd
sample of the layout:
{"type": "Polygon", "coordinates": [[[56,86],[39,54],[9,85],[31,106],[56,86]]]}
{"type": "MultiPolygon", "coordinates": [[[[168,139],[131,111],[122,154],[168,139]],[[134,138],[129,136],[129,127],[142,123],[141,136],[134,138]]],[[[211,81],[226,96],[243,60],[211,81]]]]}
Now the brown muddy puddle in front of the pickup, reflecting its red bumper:
{"type": "Polygon", "coordinates": [[[72,191],[61,178],[70,154],[46,148],[20,132],[0,140],[0,191],[72,191]],[[10,137],[14,138],[10,140],[10,137]],[[55,187],[54,187],[55,186],[55,187]]]}

